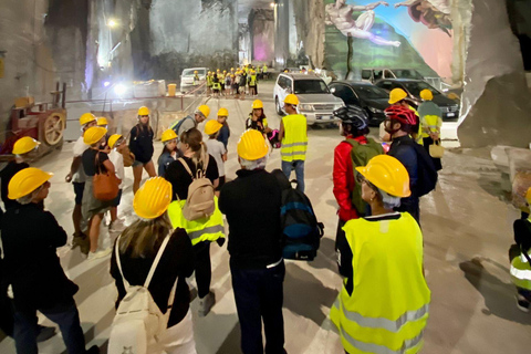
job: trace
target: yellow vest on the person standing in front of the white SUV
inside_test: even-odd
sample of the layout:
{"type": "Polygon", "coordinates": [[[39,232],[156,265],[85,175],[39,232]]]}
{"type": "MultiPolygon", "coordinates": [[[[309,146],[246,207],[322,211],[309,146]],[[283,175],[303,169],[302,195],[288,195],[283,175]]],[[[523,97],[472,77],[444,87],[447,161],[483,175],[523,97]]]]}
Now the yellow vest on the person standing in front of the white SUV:
{"type": "Polygon", "coordinates": [[[306,117],[290,114],[282,118],[284,136],[280,155],[283,162],[305,160],[308,149],[306,117]]]}

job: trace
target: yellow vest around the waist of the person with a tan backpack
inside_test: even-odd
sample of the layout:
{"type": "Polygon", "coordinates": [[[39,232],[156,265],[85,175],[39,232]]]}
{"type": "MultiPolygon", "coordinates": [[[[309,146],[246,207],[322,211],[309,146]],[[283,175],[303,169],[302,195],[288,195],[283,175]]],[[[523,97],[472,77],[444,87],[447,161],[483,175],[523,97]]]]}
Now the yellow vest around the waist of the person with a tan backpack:
{"type": "Polygon", "coordinates": [[[214,242],[219,238],[225,238],[223,216],[218,208],[218,198],[214,197],[216,209],[208,218],[201,218],[189,221],[183,215],[183,208],[186,200],[171,201],[168,208],[169,220],[174,229],[183,228],[188,233],[191,244],[196,246],[202,241],[214,242]]]}

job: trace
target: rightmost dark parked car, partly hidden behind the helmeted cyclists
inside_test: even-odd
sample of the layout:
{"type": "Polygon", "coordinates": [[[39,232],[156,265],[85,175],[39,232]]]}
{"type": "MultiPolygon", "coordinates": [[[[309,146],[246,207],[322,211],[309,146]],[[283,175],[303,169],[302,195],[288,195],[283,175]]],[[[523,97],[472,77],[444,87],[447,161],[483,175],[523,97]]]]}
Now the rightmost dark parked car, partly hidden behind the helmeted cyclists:
{"type": "Polygon", "coordinates": [[[409,95],[409,98],[418,106],[423,100],[420,100],[420,91],[429,90],[434,94],[434,103],[442,111],[442,121],[457,121],[459,117],[459,103],[448,98],[440,91],[431,86],[421,80],[408,80],[408,79],[385,79],[376,83],[376,86],[386,90],[387,92],[393,88],[403,88],[409,95]]]}

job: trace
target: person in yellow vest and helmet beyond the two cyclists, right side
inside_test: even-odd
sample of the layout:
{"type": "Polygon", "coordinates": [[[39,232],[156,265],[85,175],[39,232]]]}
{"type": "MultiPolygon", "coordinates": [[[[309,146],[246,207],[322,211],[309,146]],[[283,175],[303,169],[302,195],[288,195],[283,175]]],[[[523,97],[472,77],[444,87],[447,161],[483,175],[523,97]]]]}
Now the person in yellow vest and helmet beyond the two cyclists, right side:
{"type": "MultiPolygon", "coordinates": [[[[429,154],[429,146],[431,144],[440,144],[440,127],[442,126],[442,112],[439,106],[436,105],[431,100],[434,100],[434,94],[429,90],[420,91],[420,98],[424,102],[418,106],[418,115],[420,116],[420,138],[423,139],[423,145],[429,154]]],[[[440,158],[431,157],[435,168],[437,170],[442,169],[440,158]]]]}

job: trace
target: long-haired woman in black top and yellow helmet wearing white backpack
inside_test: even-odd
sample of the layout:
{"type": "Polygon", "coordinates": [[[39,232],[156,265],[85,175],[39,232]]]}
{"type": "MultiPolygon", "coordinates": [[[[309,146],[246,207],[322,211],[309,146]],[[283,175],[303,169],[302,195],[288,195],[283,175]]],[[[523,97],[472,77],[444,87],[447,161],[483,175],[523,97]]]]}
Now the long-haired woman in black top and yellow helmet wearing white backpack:
{"type": "MultiPolygon", "coordinates": [[[[171,184],[162,177],[149,178],[138,189],[133,209],[139,219],[116,239],[111,275],[118,290],[116,306],[126,295],[126,285],[143,285],[147,280],[147,289],[160,312],[169,311],[167,330],[156,337],[157,348],[167,354],[195,354],[190,291],[186,283],[194,272],[194,254],[186,231],[171,227],[167,214],[170,202],[171,184]],[[159,251],[159,261],[154,264],[159,251]],[[155,272],[147,279],[152,266],[155,272]]],[[[147,353],[158,352],[148,347],[147,353]]]]}

